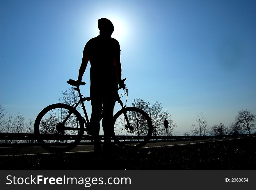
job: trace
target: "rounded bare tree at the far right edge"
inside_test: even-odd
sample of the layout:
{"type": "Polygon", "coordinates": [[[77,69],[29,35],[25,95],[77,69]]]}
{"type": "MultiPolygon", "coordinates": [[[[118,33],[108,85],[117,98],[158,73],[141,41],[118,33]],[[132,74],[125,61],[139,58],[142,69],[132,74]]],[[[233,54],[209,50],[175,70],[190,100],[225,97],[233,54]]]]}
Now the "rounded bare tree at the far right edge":
{"type": "Polygon", "coordinates": [[[255,118],[256,115],[246,109],[239,111],[237,116],[235,117],[235,120],[240,123],[243,129],[248,131],[250,135],[250,130],[255,128],[255,118]]]}

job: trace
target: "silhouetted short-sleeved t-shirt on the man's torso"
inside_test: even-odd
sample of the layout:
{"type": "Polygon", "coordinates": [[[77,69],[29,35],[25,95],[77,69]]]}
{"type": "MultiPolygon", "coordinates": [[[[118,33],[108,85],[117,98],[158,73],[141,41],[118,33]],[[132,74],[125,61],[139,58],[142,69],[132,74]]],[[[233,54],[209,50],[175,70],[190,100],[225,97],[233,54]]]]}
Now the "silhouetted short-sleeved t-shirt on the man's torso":
{"type": "Polygon", "coordinates": [[[114,57],[120,57],[120,45],[114,38],[97,36],[90,39],[83,50],[83,56],[89,57],[91,82],[116,81],[114,57]]]}

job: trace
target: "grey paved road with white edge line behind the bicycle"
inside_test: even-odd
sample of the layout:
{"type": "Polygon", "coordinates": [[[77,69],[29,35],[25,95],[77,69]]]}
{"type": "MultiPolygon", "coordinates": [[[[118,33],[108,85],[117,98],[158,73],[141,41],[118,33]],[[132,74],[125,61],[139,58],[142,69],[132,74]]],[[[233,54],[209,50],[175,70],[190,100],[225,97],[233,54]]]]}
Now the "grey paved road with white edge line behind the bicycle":
{"type": "MultiPolygon", "coordinates": [[[[237,139],[230,138],[228,140],[237,139]]],[[[150,142],[145,145],[143,148],[148,147],[162,147],[162,146],[175,146],[175,145],[187,145],[195,144],[202,142],[213,142],[227,139],[217,139],[217,140],[196,140],[196,141],[176,141],[176,142],[150,142]]],[[[75,152],[90,152],[93,151],[93,145],[78,145],[76,146],[71,153],[75,152]]],[[[41,146],[23,146],[23,147],[0,147],[0,156],[8,155],[38,155],[38,154],[48,154],[49,152],[43,149],[41,146]]]]}

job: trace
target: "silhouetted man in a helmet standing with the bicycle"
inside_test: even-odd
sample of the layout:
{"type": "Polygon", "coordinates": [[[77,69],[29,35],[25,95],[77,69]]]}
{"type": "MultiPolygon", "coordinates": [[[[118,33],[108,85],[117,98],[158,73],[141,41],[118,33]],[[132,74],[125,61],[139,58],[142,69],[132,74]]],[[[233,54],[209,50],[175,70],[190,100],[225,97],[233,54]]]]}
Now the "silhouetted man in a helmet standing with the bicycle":
{"type": "Polygon", "coordinates": [[[79,69],[77,82],[82,81],[82,76],[90,60],[90,97],[92,115],[90,126],[94,139],[95,152],[101,151],[99,141],[99,119],[102,112],[102,127],[104,131],[103,149],[111,148],[111,135],[113,133],[113,110],[115,106],[117,87],[124,86],[121,80],[120,45],[111,38],[114,26],[110,20],[98,20],[99,36],[90,39],[83,50],[82,63],[79,69]]]}

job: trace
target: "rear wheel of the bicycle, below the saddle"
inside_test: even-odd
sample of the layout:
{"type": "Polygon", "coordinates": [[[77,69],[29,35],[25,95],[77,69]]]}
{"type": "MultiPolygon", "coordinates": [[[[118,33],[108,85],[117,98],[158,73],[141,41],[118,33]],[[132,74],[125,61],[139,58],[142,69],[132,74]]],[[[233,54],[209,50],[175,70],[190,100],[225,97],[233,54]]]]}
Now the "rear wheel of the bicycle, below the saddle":
{"type": "Polygon", "coordinates": [[[47,151],[67,152],[77,146],[83,137],[83,118],[70,105],[52,104],[36,117],[34,133],[38,143],[47,151]]]}

